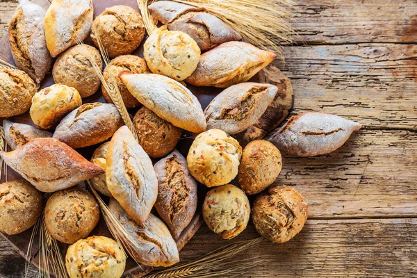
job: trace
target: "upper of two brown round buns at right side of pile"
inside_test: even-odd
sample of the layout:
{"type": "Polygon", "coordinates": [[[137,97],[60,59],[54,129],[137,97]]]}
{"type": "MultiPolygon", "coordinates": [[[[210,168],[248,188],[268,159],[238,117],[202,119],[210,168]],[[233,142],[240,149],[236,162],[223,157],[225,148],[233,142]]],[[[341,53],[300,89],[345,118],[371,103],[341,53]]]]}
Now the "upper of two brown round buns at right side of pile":
{"type": "Polygon", "coordinates": [[[281,153],[270,142],[255,140],[243,149],[238,181],[247,194],[258,194],[270,186],[281,172],[281,153]]]}

